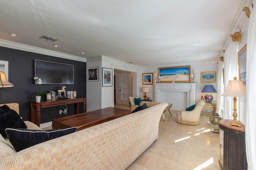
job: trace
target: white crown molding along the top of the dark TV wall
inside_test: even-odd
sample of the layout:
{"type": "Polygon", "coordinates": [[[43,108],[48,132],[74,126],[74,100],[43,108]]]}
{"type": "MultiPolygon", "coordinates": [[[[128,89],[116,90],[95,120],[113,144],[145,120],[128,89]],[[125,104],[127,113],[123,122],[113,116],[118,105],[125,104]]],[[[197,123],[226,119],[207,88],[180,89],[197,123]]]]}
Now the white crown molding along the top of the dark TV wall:
{"type": "Polygon", "coordinates": [[[54,57],[59,57],[59,58],[65,58],[68,60],[75,60],[75,61],[80,61],[80,62],[86,62],[86,58],[79,57],[79,56],[73,56],[69,54],[64,54],[61,52],[56,52],[56,51],[51,51],[51,50],[46,50],[43,48],[38,48],[38,47],[33,47],[33,46],[28,46],[16,42],[10,42],[6,40],[0,39],[0,46],[2,47],[7,47],[7,48],[12,48],[16,50],[22,50],[22,51],[27,51],[27,52],[34,52],[37,54],[44,54],[47,56],[54,56],[54,57]]]}

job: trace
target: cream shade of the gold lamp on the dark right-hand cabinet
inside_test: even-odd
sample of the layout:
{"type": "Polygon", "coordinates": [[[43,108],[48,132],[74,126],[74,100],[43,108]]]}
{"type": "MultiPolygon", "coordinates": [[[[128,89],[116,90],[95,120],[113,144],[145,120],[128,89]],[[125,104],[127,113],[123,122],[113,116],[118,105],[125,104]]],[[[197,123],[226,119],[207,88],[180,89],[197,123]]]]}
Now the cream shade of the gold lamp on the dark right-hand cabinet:
{"type": "Polygon", "coordinates": [[[228,87],[222,96],[229,97],[246,97],[246,88],[242,80],[229,80],[228,87]]]}

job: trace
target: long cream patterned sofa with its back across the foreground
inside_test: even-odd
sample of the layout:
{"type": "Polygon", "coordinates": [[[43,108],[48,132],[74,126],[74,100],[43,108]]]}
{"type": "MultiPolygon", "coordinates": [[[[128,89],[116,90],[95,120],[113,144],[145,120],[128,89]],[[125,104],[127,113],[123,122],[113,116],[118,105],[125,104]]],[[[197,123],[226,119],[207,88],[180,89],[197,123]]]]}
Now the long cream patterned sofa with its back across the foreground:
{"type": "Polygon", "coordinates": [[[0,170],[124,170],[158,138],[168,104],[146,103],[149,108],[19,152],[0,136],[1,150],[9,152],[1,153],[0,170]]]}

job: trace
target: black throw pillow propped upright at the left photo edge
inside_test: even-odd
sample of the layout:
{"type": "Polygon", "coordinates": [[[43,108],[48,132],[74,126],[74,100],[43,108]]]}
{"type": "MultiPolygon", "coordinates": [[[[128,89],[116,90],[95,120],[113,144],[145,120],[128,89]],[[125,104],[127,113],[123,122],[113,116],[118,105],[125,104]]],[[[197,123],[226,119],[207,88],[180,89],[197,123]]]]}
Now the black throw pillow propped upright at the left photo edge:
{"type": "Polygon", "coordinates": [[[7,137],[6,128],[27,128],[27,125],[20,118],[15,110],[9,110],[4,114],[0,114],[0,134],[3,137],[7,137]]]}

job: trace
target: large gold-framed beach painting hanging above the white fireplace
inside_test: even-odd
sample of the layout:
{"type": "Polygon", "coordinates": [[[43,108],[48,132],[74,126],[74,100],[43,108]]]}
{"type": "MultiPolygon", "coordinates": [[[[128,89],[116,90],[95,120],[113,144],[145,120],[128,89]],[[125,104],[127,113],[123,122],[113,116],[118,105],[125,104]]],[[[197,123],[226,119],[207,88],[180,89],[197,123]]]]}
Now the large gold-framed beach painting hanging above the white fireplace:
{"type": "Polygon", "coordinates": [[[190,66],[158,68],[159,82],[190,82],[190,66]]]}

